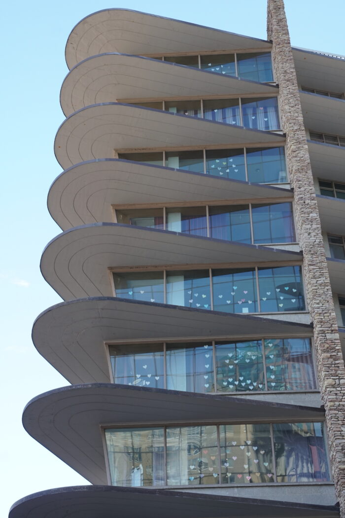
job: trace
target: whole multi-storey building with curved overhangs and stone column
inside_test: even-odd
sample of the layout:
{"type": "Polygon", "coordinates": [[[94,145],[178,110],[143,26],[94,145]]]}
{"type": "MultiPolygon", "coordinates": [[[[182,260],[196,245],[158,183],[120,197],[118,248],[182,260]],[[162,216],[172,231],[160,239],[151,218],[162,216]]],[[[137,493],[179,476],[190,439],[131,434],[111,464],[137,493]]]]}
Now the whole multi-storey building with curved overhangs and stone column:
{"type": "Polygon", "coordinates": [[[267,40],[99,11],[66,61],[33,341],[71,385],[23,424],[92,485],[10,518],[345,516],[345,59],[268,0],[267,40]]]}

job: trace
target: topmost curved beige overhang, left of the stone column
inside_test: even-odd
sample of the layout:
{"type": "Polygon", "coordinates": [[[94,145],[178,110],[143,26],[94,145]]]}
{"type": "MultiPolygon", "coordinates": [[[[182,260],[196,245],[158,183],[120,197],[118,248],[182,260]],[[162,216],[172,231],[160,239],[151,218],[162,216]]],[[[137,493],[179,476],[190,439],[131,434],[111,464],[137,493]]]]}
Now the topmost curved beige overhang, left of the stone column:
{"type": "Polygon", "coordinates": [[[169,54],[257,48],[269,41],[129,9],[104,9],[81,20],[66,44],[68,68],[103,52],[169,54]]]}

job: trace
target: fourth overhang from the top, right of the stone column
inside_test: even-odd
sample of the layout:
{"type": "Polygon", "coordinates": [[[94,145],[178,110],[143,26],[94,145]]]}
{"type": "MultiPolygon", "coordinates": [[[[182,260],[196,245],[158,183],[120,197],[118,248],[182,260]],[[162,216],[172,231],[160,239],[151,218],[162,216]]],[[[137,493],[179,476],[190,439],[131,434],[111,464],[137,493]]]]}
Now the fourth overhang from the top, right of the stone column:
{"type": "Polygon", "coordinates": [[[345,200],[317,194],[321,227],[329,234],[345,234],[345,200]]]}

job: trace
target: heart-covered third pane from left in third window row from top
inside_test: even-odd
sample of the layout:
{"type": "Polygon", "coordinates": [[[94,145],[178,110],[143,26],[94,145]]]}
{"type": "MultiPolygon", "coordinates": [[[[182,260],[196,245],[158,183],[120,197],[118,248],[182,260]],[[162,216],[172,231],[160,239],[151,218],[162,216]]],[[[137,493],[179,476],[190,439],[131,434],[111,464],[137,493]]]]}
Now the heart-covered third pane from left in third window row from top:
{"type": "Polygon", "coordinates": [[[206,150],[206,174],[246,181],[243,149],[206,150]]]}

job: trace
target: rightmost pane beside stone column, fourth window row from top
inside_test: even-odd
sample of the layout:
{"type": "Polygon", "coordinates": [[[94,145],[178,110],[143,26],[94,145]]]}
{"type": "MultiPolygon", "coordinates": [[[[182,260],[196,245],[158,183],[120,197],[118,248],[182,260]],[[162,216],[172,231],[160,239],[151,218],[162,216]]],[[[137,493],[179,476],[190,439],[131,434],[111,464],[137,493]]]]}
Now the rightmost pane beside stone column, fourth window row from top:
{"type": "Polygon", "coordinates": [[[295,241],[292,204],[252,205],[254,243],[295,241]]]}

